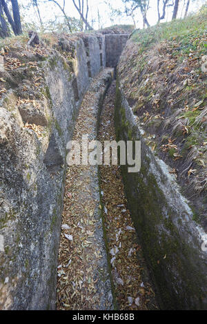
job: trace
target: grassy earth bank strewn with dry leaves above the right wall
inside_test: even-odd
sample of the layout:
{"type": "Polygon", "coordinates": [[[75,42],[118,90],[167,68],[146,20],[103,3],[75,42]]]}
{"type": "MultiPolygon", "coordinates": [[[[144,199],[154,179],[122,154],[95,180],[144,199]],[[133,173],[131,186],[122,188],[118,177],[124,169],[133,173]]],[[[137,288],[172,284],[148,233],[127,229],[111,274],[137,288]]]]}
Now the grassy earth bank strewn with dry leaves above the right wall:
{"type": "Polygon", "coordinates": [[[119,75],[148,145],[172,168],[207,228],[207,8],[132,34],[119,75]],[[130,85],[130,86],[129,86],[130,85]]]}

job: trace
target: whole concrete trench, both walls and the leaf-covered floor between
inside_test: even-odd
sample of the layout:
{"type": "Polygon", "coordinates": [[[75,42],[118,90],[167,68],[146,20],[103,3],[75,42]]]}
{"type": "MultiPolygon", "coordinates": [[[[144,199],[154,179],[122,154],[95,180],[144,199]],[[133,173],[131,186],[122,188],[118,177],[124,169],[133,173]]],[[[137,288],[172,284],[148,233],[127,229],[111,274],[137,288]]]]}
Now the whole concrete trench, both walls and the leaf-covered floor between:
{"type": "Polygon", "coordinates": [[[0,98],[1,310],[206,308],[205,233],[121,88],[128,38],[62,38],[12,71],[0,98]],[[141,141],[141,171],[68,165],[68,141],[83,135],[141,141]]]}

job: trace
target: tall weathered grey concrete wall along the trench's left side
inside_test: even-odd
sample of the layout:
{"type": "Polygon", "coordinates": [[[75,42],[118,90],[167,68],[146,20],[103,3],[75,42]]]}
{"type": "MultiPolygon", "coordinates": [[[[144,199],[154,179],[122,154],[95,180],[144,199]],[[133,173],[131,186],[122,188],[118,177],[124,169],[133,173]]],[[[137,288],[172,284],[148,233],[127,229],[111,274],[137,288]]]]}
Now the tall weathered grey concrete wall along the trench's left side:
{"type": "Polygon", "coordinates": [[[60,39],[59,48],[44,61],[25,52],[24,68],[6,72],[12,86],[0,102],[3,310],[55,309],[66,144],[90,79],[106,65],[105,36],[60,39]]]}

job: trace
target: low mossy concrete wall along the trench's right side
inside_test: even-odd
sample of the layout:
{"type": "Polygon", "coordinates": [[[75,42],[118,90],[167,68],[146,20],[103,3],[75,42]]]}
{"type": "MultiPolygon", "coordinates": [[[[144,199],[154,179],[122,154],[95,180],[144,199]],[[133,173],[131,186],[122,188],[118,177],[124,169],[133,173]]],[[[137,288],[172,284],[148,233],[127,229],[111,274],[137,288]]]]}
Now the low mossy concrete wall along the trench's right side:
{"type": "MultiPolygon", "coordinates": [[[[118,72],[119,74],[119,72],[118,72]]],[[[193,221],[175,176],[147,145],[148,136],[137,123],[117,81],[117,140],[141,141],[141,170],[122,166],[128,205],[144,249],[160,306],[166,310],[205,310],[206,233],[193,221]]]]}

